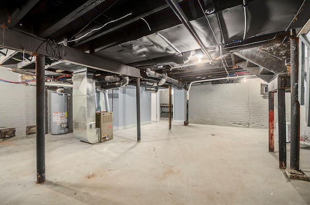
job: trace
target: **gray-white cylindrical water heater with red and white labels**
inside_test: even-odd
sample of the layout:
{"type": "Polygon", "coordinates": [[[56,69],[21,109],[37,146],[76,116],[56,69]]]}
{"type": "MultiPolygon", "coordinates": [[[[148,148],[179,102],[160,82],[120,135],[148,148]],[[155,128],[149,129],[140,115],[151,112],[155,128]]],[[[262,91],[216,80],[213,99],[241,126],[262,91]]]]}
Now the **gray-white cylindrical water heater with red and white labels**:
{"type": "Polygon", "coordinates": [[[68,132],[68,94],[57,89],[50,94],[50,132],[64,134],[68,132]]]}

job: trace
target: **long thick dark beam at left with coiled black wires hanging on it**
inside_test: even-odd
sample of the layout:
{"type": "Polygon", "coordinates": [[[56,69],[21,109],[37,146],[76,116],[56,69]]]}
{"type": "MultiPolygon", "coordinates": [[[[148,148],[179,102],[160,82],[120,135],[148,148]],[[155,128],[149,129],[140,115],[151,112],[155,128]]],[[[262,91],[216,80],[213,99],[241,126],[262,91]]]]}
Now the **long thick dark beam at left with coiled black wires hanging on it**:
{"type": "MultiPolygon", "coordinates": [[[[2,42],[0,47],[14,49],[21,52],[25,51],[29,54],[40,53],[49,56],[51,53],[51,51],[48,52],[46,49],[47,41],[10,29],[5,29],[3,35],[0,35],[0,42],[2,42]]],[[[55,46],[60,45],[50,44],[49,47],[53,50],[58,50],[59,48],[56,48],[55,46]]],[[[65,54],[65,56],[62,56],[62,60],[65,62],[111,73],[141,77],[140,70],[134,67],[103,59],[68,46],[63,46],[62,49],[63,55],[65,54]]],[[[56,57],[56,59],[61,60],[60,57],[56,57]]]]}

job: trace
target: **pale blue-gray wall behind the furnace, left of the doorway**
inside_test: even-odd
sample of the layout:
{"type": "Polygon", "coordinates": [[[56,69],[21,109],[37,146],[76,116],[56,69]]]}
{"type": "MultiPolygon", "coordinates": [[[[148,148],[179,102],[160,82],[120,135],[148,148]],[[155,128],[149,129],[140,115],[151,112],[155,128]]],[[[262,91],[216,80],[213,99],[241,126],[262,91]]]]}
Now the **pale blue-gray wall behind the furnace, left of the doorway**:
{"type": "MultiPolygon", "coordinates": [[[[135,127],[137,125],[136,87],[126,86],[109,90],[109,106],[113,107],[113,126],[115,130],[135,127]]],[[[151,123],[151,93],[140,88],[141,124],[151,123]]]]}

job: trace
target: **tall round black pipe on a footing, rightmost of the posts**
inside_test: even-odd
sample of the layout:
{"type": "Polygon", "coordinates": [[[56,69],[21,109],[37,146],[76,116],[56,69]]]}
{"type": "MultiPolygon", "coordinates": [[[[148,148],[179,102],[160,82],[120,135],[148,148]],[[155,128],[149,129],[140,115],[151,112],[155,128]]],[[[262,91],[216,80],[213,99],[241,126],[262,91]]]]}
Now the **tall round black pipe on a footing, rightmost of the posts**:
{"type": "Polygon", "coordinates": [[[291,155],[290,168],[299,171],[300,104],[298,102],[298,38],[291,45],[291,155]]]}

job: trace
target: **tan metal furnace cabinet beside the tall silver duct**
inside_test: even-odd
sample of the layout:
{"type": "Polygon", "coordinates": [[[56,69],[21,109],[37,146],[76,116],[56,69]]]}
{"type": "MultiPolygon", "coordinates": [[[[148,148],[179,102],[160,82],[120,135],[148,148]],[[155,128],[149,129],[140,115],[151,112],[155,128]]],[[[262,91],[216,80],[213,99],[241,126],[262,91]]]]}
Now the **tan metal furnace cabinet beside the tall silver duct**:
{"type": "Polygon", "coordinates": [[[100,130],[99,142],[113,139],[113,113],[96,113],[96,127],[100,130]]]}

